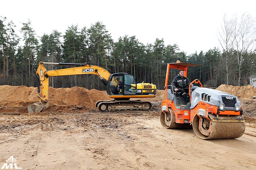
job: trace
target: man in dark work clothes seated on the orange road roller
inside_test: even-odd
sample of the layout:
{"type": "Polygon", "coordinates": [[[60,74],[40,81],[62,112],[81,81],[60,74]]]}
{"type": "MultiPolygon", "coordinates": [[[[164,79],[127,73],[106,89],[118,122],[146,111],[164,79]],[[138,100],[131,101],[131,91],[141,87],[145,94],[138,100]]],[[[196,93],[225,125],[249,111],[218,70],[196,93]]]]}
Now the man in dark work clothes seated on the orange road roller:
{"type": "MultiPolygon", "coordinates": [[[[172,86],[174,91],[181,92],[183,98],[188,103],[190,102],[190,98],[188,97],[188,88],[189,84],[191,83],[187,77],[184,76],[185,70],[179,70],[178,76],[175,76],[172,82],[172,86]]],[[[193,85],[191,84],[191,87],[193,85]]]]}

